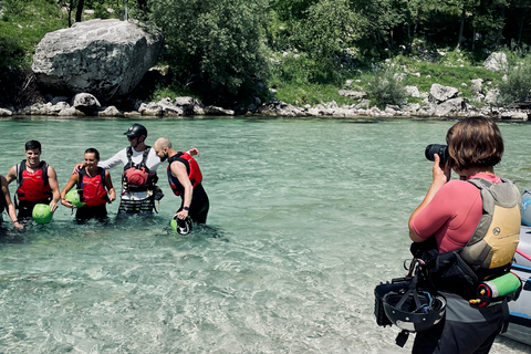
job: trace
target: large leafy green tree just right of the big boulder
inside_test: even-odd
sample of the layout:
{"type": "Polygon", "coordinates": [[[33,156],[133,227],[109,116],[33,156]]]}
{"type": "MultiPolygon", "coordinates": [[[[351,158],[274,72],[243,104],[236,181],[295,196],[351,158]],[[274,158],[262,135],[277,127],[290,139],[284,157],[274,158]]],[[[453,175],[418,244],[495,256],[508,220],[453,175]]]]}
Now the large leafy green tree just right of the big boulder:
{"type": "Polygon", "coordinates": [[[166,61],[178,84],[206,100],[232,103],[268,77],[267,0],[152,0],[166,61]]]}

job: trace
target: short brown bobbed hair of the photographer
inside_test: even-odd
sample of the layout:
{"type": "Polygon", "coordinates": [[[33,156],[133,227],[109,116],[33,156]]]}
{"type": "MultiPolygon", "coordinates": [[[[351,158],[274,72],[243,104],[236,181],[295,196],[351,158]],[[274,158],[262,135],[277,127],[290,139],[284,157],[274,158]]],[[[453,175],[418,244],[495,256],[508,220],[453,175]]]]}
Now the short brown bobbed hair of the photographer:
{"type": "Polygon", "coordinates": [[[469,167],[492,167],[503,156],[503,138],[494,122],[470,117],[456,123],[446,135],[449,164],[464,170],[469,167]]]}

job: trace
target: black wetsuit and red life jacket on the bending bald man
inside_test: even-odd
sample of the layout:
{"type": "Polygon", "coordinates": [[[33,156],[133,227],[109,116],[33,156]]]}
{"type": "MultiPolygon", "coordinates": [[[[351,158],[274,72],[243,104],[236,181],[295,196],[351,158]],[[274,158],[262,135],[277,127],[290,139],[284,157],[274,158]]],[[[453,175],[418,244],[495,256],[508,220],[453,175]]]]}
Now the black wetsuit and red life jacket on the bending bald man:
{"type": "Polygon", "coordinates": [[[210,202],[208,200],[208,196],[207,196],[207,192],[205,191],[205,188],[202,188],[202,184],[201,184],[202,175],[199,169],[199,166],[197,165],[194,157],[191,157],[187,153],[177,153],[176,155],[168,158],[167,174],[168,174],[169,186],[171,187],[171,190],[174,191],[174,194],[176,196],[180,196],[180,198],[183,199],[177,212],[183,210],[183,204],[185,198],[185,187],[179,183],[179,179],[177,177],[174,177],[174,175],[171,175],[170,166],[174,162],[180,162],[186,166],[188,178],[190,179],[190,183],[194,187],[194,191],[191,194],[191,204],[189,206],[188,215],[194,221],[199,223],[206,223],[210,202]]]}

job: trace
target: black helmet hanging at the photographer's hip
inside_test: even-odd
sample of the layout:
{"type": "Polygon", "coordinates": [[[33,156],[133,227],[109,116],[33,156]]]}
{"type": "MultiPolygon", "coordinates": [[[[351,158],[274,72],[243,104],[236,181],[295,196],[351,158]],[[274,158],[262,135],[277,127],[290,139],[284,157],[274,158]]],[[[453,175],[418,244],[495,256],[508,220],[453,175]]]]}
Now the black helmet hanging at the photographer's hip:
{"type": "Polygon", "coordinates": [[[396,326],[408,332],[421,332],[442,319],[446,300],[423,290],[392,291],[384,296],[384,311],[396,326]]]}

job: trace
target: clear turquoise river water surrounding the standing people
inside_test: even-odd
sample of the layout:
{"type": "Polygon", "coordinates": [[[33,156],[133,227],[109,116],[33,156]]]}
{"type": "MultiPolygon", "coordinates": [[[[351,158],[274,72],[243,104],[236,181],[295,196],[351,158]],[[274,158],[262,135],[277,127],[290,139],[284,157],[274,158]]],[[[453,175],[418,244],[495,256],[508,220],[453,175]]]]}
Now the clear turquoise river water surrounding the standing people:
{"type": "MultiPolygon", "coordinates": [[[[208,228],[181,237],[165,192],[149,220],[50,225],[0,238],[0,353],[408,353],[378,327],[374,287],[405,274],[407,220],[430,184],[430,143],[454,121],[0,119],[0,174],[42,143],[60,187],[87,147],[108,158],[133,123],[147,143],[199,148],[208,228]]],[[[531,188],[531,125],[500,123],[497,168],[531,188]]],[[[111,170],[119,190],[121,168],[111,170]]],[[[10,186],[11,195],[14,185],[10,186]]],[[[4,220],[8,217],[3,216],[4,220]]],[[[491,353],[529,353],[498,337],[491,353]]]]}

